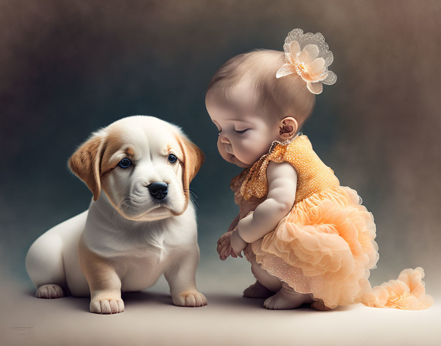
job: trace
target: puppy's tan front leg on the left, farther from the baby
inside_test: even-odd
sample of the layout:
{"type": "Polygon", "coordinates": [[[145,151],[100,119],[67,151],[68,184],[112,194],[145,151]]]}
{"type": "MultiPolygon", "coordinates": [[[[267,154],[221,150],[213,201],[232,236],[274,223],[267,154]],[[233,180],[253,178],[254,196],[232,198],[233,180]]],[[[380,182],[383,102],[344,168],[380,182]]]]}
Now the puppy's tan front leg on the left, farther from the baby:
{"type": "Polygon", "coordinates": [[[82,236],[78,243],[78,259],[91,291],[91,313],[122,313],[121,279],[107,259],[86,247],[82,236]]]}

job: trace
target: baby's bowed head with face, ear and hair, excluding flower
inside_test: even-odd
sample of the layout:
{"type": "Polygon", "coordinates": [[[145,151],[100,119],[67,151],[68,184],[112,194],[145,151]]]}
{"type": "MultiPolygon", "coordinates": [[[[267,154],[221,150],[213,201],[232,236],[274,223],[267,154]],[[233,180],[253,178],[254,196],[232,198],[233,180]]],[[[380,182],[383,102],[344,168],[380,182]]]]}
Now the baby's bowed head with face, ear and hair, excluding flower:
{"type": "Polygon", "coordinates": [[[284,52],[256,50],[225,62],[205,97],[219,131],[218,149],[228,162],[251,167],[273,141],[293,138],[315,106],[315,94],[296,73],[276,78],[284,52]]]}

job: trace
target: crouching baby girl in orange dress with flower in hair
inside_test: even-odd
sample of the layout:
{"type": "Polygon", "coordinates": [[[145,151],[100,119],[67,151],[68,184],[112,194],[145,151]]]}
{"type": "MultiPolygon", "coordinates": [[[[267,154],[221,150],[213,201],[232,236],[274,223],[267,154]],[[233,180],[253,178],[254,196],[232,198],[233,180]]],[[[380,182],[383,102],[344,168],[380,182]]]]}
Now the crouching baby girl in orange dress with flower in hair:
{"type": "MultiPolygon", "coordinates": [[[[388,288],[373,290],[368,281],[378,261],[372,213],[355,190],[340,186],[301,133],[315,94],[337,80],[328,70],[332,61],[320,33],[295,29],[284,52],[255,50],[228,60],[207,90],[219,152],[245,169],[230,184],[239,215],[219,239],[218,253],[224,260],[244,251],[257,280],[244,296],[267,298],[268,309],[307,303],[329,310],[360,301],[388,307],[393,300],[388,288]]],[[[420,289],[422,268],[404,272],[408,299],[396,305],[430,306],[420,289]],[[419,285],[417,293],[410,282],[419,285]]]]}

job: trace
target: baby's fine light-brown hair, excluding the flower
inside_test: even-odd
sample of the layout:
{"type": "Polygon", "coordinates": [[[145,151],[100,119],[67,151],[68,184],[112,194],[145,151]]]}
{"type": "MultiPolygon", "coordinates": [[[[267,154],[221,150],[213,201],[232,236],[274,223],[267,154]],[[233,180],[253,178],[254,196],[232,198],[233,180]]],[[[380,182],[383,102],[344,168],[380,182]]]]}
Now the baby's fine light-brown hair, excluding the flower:
{"type": "Polygon", "coordinates": [[[306,87],[302,78],[293,74],[277,78],[284,65],[285,54],[275,50],[259,49],[240,54],[225,62],[211,79],[207,99],[232,102],[231,90],[239,83],[250,86],[254,95],[256,113],[269,122],[293,116],[301,130],[315,106],[315,94],[306,87]]]}

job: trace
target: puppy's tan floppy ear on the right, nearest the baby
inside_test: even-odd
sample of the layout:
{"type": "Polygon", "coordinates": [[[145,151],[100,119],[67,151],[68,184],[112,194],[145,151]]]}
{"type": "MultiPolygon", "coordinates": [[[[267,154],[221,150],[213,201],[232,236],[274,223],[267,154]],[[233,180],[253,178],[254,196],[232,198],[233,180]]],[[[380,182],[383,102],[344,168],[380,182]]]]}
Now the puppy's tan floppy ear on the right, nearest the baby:
{"type": "Polygon", "coordinates": [[[190,181],[193,180],[196,173],[201,168],[202,164],[205,161],[205,155],[199,147],[192,143],[185,135],[177,136],[178,143],[181,146],[183,157],[183,176],[182,176],[182,184],[184,186],[184,194],[186,197],[185,208],[189,203],[190,198],[190,181]]]}

